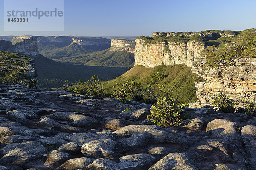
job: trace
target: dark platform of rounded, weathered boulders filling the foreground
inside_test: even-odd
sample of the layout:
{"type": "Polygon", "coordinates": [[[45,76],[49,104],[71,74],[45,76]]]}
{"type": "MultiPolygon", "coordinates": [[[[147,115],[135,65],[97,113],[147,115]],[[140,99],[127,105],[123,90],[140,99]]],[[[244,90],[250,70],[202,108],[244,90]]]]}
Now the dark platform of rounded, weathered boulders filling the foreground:
{"type": "Polygon", "coordinates": [[[256,170],[256,118],[187,108],[164,129],[149,108],[0,85],[0,169],[256,170]]]}

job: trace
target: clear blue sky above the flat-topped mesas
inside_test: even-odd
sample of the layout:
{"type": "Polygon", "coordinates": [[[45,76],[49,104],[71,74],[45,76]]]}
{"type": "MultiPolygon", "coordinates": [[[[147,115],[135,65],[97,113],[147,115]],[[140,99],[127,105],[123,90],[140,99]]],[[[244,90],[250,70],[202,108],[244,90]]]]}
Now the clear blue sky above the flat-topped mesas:
{"type": "Polygon", "coordinates": [[[150,36],[152,32],[244,30],[256,28],[255,8],[256,0],[65,0],[65,31],[5,32],[4,0],[0,0],[0,36],[150,36]]]}

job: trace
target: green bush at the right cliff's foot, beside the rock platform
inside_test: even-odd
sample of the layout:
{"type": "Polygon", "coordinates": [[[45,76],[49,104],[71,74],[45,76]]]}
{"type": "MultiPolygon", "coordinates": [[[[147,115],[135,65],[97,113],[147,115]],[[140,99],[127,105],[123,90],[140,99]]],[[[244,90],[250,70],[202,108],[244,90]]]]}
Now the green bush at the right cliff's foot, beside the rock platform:
{"type": "Polygon", "coordinates": [[[212,106],[215,111],[222,111],[225,113],[234,113],[237,104],[234,102],[233,99],[228,99],[224,94],[216,94],[213,97],[212,106]]]}

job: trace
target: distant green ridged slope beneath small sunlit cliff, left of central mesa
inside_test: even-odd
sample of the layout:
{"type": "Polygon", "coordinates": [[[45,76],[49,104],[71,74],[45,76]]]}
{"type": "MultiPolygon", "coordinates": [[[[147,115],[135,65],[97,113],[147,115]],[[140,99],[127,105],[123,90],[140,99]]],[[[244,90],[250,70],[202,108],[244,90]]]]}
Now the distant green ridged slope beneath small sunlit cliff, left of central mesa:
{"type": "Polygon", "coordinates": [[[107,49],[94,53],[55,59],[55,61],[91,66],[133,67],[134,54],[125,51],[112,51],[107,49]]]}

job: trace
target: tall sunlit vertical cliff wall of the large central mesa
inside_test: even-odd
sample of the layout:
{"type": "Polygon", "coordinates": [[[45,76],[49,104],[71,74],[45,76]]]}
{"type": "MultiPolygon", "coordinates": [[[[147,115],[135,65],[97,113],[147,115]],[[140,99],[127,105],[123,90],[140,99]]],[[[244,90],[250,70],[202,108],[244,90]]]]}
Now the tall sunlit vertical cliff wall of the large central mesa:
{"type": "Polygon", "coordinates": [[[157,65],[185,64],[189,67],[200,57],[204,50],[203,42],[189,40],[181,42],[147,43],[143,39],[136,39],[135,65],[155,67],[157,65]]]}

